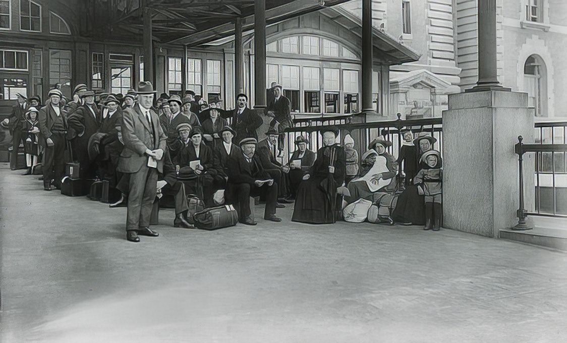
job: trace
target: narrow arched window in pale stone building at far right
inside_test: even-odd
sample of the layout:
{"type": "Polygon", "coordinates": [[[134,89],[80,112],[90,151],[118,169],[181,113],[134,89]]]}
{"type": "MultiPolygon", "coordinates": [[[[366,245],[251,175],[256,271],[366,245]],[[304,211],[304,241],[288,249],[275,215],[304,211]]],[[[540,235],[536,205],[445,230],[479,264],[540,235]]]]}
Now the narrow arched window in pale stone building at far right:
{"type": "Polygon", "coordinates": [[[524,63],[524,92],[528,94],[528,106],[535,108],[535,115],[546,117],[547,70],[538,55],[531,55],[524,63]]]}

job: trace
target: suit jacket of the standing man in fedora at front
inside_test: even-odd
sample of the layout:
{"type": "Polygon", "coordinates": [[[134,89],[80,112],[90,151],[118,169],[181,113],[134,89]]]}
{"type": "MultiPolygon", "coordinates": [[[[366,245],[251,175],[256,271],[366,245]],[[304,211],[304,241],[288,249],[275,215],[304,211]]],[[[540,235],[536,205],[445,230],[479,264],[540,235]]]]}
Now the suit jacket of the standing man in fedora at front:
{"type": "MultiPolygon", "coordinates": [[[[158,115],[151,109],[149,111],[153,128],[150,128],[145,114],[140,111],[138,105],[126,108],[122,112],[121,129],[124,149],[120,154],[117,171],[135,173],[143,166],[147,166],[146,149],[162,149],[165,154],[167,135],[159,125],[158,115]],[[154,141],[151,141],[152,130],[155,132],[154,141]]],[[[163,172],[163,158],[158,161],[158,171],[163,172]]]]}

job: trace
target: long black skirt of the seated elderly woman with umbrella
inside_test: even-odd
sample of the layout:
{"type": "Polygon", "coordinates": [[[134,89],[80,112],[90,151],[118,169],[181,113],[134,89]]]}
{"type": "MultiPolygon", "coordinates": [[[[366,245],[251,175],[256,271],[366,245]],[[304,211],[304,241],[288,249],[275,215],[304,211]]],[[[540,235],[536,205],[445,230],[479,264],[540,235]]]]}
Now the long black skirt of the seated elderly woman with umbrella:
{"type": "MultiPolygon", "coordinates": [[[[318,177],[311,177],[299,184],[291,221],[311,224],[334,222],[331,201],[320,184],[321,179],[318,177]]],[[[340,207],[340,204],[335,206],[335,218],[337,218],[336,213],[340,207]]]]}

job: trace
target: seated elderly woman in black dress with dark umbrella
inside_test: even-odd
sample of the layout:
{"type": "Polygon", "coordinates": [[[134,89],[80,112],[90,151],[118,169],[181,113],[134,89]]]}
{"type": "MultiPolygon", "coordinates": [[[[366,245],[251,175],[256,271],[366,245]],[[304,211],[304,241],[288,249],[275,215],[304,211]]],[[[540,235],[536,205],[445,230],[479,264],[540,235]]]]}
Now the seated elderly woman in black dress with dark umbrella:
{"type": "Polygon", "coordinates": [[[336,143],[338,129],[330,126],[322,132],[323,145],[315,163],[299,184],[291,220],[294,222],[334,223],[341,210],[337,187],[346,177],[345,150],[336,143]]]}

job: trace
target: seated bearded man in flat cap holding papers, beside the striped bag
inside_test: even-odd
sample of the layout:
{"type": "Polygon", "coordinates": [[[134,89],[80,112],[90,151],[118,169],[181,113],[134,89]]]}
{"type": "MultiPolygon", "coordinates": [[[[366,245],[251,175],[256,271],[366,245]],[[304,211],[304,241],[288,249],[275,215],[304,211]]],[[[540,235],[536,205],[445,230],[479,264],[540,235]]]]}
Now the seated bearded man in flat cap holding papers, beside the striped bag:
{"type": "Polygon", "coordinates": [[[256,138],[242,139],[242,152],[229,160],[227,169],[229,180],[226,185],[226,204],[238,208],[239,222],[246,225],[256,225],[251,217],[249,198],[259,195],[262,189],[266,192],[264,219],[281,222],[281,218],[276,217],[278,185],[262,167],[259,156],[256,156],[257,143],[256,138]]]}

